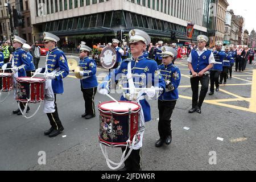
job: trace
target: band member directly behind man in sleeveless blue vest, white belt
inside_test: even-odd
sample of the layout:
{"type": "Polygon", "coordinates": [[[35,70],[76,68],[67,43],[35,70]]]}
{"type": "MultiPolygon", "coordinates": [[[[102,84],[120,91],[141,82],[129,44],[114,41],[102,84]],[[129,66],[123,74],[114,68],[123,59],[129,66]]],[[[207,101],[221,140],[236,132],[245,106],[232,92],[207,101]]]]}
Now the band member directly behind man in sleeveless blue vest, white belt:
{"type": "Polygon", "coordinates": [[[226,57],[225,51],[222,51],[222,42],[217,41],[215,43],[216,50],[213,52],[215,63],[213,67],[210,69],[210,93],[209,96],[212,96],[214,94],[214,84],[216,86],[215,91],[218,92],[219,90],[219,82],[218,79],[220,77],[221,72],[223,71],[223,60],[226,57]]]}

